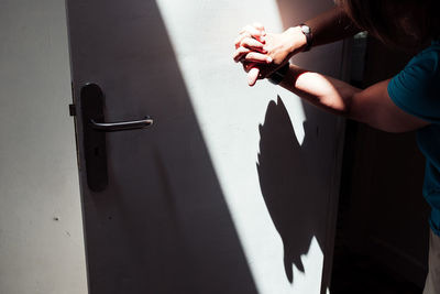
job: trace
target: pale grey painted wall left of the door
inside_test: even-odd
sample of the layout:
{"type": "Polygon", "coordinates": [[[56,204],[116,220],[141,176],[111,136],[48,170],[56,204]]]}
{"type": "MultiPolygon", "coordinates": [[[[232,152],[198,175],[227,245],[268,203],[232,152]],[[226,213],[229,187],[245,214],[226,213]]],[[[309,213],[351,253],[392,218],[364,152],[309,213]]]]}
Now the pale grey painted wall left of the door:
{"type": "Polygon", "coordinates": [[[0,40],[0,293],[87,293],[64,1],[1,1],[0,40]]]}

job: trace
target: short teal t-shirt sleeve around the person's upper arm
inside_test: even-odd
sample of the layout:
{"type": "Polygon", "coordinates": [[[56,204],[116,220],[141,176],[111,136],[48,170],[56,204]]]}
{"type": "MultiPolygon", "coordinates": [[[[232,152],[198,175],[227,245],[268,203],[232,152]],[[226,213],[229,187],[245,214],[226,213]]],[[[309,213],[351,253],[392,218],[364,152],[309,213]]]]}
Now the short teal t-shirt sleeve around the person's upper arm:
{"type": "Polygon", "coordinates": [[[430,122],[440,122],[439,54],[414,57],[388,84],[388,95],[404,111],[430,122]]]}

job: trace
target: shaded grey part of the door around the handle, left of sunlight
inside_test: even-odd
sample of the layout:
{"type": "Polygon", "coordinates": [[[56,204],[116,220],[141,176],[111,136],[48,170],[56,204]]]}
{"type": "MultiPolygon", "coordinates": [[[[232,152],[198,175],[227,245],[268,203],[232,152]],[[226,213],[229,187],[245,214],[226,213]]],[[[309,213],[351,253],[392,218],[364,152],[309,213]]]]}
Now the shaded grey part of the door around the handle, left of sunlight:
{"type": "Polygon", "coordinates": [[[155,1],[69,1],[68,18],[81,154],[88,83],[106,122],[154,120],[97,143],[99,192],[80,157],[90,293],[256,293],[155,1]]]}

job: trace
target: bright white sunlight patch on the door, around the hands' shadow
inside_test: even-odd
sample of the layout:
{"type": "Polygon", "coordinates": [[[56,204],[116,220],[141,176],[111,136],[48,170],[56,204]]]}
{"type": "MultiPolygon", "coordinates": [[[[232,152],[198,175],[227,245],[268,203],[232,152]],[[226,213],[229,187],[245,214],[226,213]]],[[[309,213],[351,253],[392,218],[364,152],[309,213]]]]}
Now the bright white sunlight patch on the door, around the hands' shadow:
{"type": "Polygon", "coordinates": [[[305,137],[302,105],[266,80],[248,87],[244,72],[232,61],[233,40],[246,23],[260,21],[267,30],[283,30],[276,2],[156,2],[258,293],[318,294],[322,251],[316,238],[309,239],[308,253],[301,257],[305,272],[294,268],[290,284],[283,265],[283,243],[263,199],[256,168],[258,126],[264,123],[268,104],[283,97],[295,130],[292,135],[299,144],[305,137]]]}

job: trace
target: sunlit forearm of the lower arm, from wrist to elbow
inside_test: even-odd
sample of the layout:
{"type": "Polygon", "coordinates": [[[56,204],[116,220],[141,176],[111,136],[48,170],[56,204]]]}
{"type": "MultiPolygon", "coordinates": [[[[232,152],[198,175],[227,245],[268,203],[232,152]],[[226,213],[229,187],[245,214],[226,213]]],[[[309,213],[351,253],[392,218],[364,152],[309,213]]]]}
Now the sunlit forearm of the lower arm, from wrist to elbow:
{"type": "Polygon", "coordinates": [[[318,108],[348,118],[352,118],[352,99],[361,91],[342,80],[296,65],[289,66],[289,72],[279,85],[318,108]]]}

